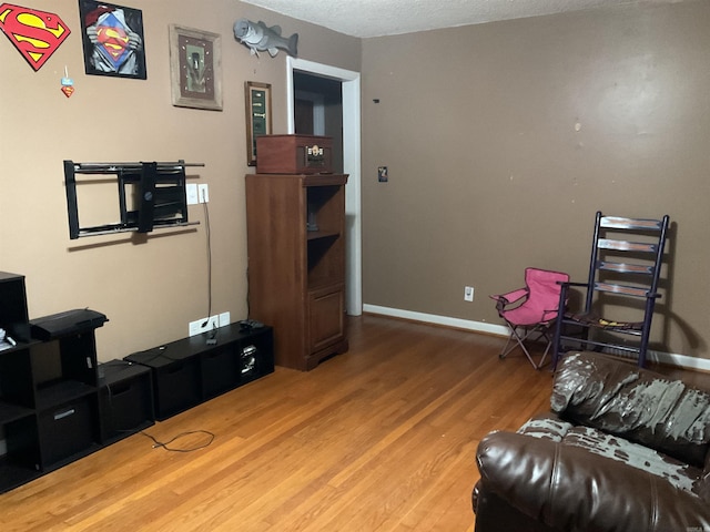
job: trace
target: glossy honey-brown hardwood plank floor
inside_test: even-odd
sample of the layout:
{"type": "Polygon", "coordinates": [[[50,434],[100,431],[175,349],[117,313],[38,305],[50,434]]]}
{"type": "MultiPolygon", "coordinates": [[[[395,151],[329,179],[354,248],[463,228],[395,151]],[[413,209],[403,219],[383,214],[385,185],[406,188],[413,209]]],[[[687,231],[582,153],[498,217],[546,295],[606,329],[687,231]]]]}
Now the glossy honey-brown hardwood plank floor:
{"type": "Polygon", "coordinates": [[[276,368],[0,495],[9,531],[473,531],[476,446],[549,408],[551,376],[503,340],[364,316],[349,352],[276,368]],[[206,434],[172,443],[199,447],[206,434]]]}

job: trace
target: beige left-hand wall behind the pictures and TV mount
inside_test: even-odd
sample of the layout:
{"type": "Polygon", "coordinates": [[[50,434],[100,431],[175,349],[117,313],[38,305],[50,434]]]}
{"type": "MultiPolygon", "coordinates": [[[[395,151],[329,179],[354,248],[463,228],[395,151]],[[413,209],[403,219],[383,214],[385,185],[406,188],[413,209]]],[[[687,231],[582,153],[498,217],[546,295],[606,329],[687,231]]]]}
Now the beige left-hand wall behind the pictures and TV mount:
{"type": "MultiPolygon", "coordinates": [[[[121,3],[121,2],[118,2],[121,3]]],[[[300,57],[359,70],[359,40],[234,0],[128,2],[142,9],[148,80],[85,75],[78,2],[36,0],[72,30],[34,72],[0,37],[0,269],[27,276],[30,317],[72,308],[100,310],[99,359],[186,336],[207,313],[204,214],[190,207],[194,231],[69,239],[62,160],[205,163],[210,186],[213,311],[246,317],[244,82],[273,86],[274,132],[286,132],[285,53],[251,57],[232,33],[245,17],[300,33],[300,57]],[[222,35],[224,111],[171,105],[168,25],[222,35]],[[64,65],[75,93],[60,92],[64,65]]],[[[81,212],[80,212],[81,214],[81,212]]],[[[0,301],[1,304],[1,301],[0,301]]]]}

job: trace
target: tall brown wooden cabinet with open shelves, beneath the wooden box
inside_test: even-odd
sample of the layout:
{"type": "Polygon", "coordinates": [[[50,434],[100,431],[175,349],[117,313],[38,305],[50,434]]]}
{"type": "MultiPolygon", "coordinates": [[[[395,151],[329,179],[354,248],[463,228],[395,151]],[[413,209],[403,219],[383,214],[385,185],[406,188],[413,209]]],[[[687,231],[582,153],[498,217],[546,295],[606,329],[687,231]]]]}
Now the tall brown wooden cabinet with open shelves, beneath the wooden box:
{"type": "Polygon", "coordinates": [[[246,176],[250,317],[274,328],[278,366],[313,369],[347,350],[347,175],[246,176]]]}

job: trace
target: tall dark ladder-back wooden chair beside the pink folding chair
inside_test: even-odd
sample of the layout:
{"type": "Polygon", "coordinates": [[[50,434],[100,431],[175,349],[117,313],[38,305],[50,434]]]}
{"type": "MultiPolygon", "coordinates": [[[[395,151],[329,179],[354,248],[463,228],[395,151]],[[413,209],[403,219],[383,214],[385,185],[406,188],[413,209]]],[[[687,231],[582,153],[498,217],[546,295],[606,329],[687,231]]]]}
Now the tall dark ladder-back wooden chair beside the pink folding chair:
{"type": "Polygon", "coordinates": [[[554,367],[571,349],[635,356],[646,365],[669,218],[623,218],[597,213],[589,278],[562,283],[555,331],[554,367]],[[565,310],[569,288],[585,293],[579,313],[565,310]],[[611,310],[620,319],[602,317],[611,310]],[[627,337],[636,337],[631,342],[627,337]]]}

